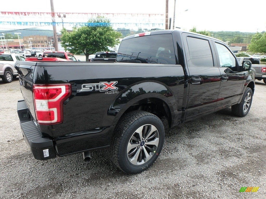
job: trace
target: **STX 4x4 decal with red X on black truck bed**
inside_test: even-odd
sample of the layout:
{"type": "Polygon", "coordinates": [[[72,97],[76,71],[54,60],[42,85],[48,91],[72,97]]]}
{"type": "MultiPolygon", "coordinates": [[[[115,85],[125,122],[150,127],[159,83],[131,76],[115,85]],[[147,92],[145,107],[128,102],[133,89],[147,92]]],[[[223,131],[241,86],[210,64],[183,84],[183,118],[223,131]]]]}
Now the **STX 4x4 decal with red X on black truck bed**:
{"type": "Polygon", "coordinates": [[[86,92],[86,91],[100,91],[100,92],[104,92],[107,90],[111,90],[109,92],[106,92],[106,94],[111,94],[111,93],[116,93],[113,91],[118,90],[118,88],[115,86],[115,84],[117,84],[117,81],[101,81],[100,83],[93,83],[93,84],[82,84],[80,92],[86,92]]]}

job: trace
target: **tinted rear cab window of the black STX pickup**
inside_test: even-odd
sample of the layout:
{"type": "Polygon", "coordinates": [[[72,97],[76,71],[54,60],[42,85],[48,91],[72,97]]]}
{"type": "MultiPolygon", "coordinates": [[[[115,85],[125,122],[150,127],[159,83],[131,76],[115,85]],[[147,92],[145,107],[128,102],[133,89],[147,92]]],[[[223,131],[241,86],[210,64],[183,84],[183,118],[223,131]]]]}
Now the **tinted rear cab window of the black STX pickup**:
{"type": "Polygon", "coordinates": [[[116,62],[176,64],[172,34],[122,40],[116,62]]]}

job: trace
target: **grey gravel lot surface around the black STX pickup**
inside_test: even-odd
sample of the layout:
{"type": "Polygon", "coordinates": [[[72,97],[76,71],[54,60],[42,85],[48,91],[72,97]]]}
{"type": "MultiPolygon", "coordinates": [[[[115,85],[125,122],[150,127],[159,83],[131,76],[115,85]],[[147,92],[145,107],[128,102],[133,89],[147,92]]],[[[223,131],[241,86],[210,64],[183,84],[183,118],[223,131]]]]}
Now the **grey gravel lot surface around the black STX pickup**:
{"type": "Polygon", "coordinates": [[[116,168],[108,149],[48,161],[33,158],[16,113],[18,78],[0,79],[0,198],[266,198],[266,84],[256,80],[249,114],[231,109],[165,127],[155,164],[137,175],[116,168]],[[259,187],[240,193],[241,187],[259,187]]]}

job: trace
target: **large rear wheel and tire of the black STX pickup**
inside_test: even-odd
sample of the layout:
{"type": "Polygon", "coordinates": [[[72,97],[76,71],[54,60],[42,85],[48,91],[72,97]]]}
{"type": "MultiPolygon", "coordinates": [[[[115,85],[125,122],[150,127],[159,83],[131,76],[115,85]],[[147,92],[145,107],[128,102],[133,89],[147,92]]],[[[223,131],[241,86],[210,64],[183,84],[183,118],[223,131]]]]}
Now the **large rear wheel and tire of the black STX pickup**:
{"type": "Polygon", "coordinates": [[[122,116],[115,127],[111,159],[122,171],[137,174],[156,161],[163,143],[161,120],[145,111],[133,111],[122,116]]]}

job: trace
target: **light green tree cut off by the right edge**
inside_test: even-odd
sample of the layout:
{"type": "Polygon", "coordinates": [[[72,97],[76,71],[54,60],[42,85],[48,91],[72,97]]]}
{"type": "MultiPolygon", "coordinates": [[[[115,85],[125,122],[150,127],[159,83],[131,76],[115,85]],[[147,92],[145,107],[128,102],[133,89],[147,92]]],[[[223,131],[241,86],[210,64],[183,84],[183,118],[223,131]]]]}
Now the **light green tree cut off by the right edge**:
{"type": "Polygon", "coordinates": [[[248,50],[253,53],[266,53],[266,32],[253,35],[248,50]]]}

